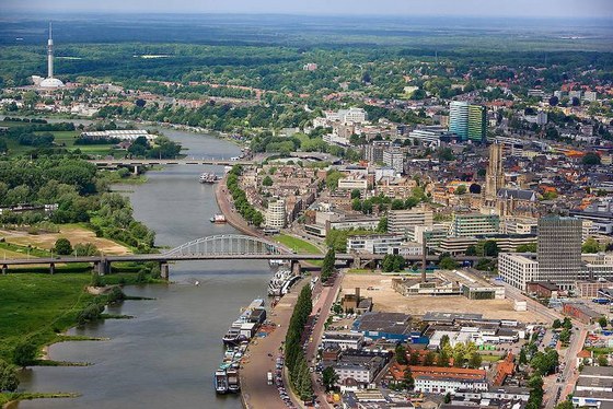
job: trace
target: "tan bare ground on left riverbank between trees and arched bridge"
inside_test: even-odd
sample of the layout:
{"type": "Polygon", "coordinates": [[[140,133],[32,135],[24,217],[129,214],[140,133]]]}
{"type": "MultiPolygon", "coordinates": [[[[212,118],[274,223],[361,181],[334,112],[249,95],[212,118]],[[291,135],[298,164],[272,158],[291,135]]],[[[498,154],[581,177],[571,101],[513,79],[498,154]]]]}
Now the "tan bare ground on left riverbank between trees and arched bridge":
{"type": "MultiPolygon", "coordinates": [[[[60,226],[59,233],[28,234],[23,231],[0,230],[0,237],[4,237],[5,241],[11,244],[22,246],[32,245],[33,247],[45,250],[51,249],[58,238],[66,237],[73,246],[78,243],[92,243],[99,250],[107,255],[125,255],[131,253],[128,248],[122,246],[120,244],[117,244],[108,238],[96,237],[94,232],[74,224],[60,226]]],[[[19,253],[7,252],[7,258],[11,258],[11,256],[23,257],[23,255],[20,255],[19,253]]]]}

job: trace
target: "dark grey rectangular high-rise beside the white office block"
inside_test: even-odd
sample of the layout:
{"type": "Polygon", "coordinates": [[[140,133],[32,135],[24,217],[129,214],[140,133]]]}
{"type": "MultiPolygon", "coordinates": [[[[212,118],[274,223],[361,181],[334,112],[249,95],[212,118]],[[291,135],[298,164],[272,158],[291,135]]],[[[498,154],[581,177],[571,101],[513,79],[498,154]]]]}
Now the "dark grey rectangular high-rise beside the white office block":
{"type": "Polygon", "coordinates": [[[581,273],[581,220],[546,215],[539,219],[539,281],[568,290],[581,273]]]}

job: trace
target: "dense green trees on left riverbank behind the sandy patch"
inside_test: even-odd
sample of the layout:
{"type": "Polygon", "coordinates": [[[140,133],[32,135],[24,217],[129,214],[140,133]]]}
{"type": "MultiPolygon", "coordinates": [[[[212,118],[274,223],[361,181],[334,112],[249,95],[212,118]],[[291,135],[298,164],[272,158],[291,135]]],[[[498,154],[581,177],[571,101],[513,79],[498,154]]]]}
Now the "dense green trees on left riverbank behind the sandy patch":
{"type": "Polygon", "coordinates": [[[97,236],[148,252],[154,233],[134,219],[127,198],[106,192],[107,187],[104,174],[79,159],[46,156],[0,162],[0,206],[58,204],[48,214],[4,211],[0,224],[88,223],[97,236]]]}

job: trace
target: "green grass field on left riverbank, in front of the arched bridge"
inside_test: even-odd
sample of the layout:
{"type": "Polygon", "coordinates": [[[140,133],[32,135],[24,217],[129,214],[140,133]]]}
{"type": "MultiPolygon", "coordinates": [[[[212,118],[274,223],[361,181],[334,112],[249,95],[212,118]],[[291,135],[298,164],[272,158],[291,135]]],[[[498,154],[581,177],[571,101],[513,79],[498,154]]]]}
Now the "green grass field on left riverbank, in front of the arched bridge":
{"type": "Polygon", "coordinates": [[[84,288],[91,273],[0,276],[0,358],[10,360],[16,344],[42,347],[59,341],[93,300],[84,288]]]}

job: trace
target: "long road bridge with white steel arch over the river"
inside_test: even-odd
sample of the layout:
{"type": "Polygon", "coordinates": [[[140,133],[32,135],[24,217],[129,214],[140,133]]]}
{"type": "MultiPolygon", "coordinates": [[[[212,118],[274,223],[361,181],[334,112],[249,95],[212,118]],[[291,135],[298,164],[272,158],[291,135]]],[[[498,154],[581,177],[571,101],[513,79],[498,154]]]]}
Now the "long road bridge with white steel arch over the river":
{"type": "MultiPolygon", "coordinates": [[[[11,266],[49,266],[49,272],[54,273],[56,265],[67,265],[76,262],[88,262],[94,266],[94,270],[100,274],[111,272],[113,262],[144,262],[157,261],[160,264],[162,278],[167,279],[170,269],[169,262],[187,260],[271,260],[284,259],[298,264],[301,260],[323,260],[324,254],[296,254],[287,247],[261,237],[253,237],[240,234],[222,234],[201,237],[185,243],[171,250],[159,254],[130,254],[122,256],[101,255],[101,256],[58,256],[42,258],[15,258],[0,261],[2,273],[9,272],[11,266]]],[[[381,254],[336,254],[338,262],[346,262],[355,267],[363,267],[372,261],[382,260],[381,254]]],[[[438,256],[427,256],[427,261],[438,261],[438,256]]],[[[456,258],[459,261],[476,261],[479,257],[463,256],[456,258]]],[[[406,257],[407,261],[419,261],[421,256],[406,257]]]]}

